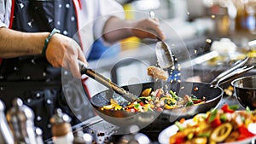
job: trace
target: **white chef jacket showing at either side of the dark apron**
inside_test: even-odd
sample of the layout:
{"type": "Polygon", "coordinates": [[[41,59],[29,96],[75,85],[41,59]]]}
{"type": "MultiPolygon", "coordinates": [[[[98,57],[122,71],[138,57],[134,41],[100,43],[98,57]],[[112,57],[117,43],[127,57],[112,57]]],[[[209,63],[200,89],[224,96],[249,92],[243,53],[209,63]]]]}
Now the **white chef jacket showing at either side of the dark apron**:
{"type": "MultiPolygon", "coordinates": [[[[15,0],[0,0],[0,27],[11,25],[10,17],[14,2],[15,0]]],[[[124,11],[114,0],[73,0],[73,3],[78,19],[81,47],[87,57],[94,40],[102,37],[103,27],[109,17],[117,16],[124,19],[124,11]]]]}

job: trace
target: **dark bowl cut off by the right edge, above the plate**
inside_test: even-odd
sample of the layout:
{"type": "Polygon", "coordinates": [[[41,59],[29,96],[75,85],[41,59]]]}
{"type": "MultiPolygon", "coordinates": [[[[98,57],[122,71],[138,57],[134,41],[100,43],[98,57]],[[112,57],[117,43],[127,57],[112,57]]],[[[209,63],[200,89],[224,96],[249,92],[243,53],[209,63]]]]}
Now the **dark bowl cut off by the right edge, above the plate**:
{"type": "Polygon", "coordinates": [[[236,99],[243,107],[256,109],[256,76],[236,78],[231,82],[235,89],[236,99]]]}

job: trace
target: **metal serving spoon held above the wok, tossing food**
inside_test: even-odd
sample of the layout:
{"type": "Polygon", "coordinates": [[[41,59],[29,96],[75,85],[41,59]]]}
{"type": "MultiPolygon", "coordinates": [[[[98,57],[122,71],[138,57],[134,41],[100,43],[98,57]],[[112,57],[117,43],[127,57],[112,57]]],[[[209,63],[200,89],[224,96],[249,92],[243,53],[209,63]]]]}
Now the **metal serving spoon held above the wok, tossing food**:
{"type": "MultiPolygon", "coordinates": [[[[150,18],[154,19],[153,11],[150,11],[149,15],[150,18]]],[[[155,46],[155,55],[160,68],[171,68],[174,65],[174,59],[170,47],[159,38],[155,46]]]]}

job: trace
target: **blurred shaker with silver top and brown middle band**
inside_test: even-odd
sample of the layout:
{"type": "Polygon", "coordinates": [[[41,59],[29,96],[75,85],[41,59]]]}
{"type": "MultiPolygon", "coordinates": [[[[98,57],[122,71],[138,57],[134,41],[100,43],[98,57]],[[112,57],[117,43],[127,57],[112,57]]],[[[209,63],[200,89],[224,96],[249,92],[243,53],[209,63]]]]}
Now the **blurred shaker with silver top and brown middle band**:
{"type": "Polygon", "coordinates": [[[63,113],[60,108],[57,108],[54,116],[50,118],[55,144],[73,144],[73,132],[69,122],[69,116],[63,113]]]}

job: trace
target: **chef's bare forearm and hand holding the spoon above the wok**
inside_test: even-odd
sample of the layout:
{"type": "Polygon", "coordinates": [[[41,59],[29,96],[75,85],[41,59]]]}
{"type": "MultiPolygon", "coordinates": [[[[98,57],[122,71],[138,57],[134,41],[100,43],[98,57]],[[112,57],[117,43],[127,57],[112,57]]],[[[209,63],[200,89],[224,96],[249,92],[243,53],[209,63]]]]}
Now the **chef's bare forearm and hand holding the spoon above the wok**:
{"type": "Polygon", "coordinates": [[[165,39],[157,19],[121,20],[118,17],[113,16],[107,20],[103,28],[103,37],[109,43],[114,43],[132,36],[142,39],[165,39]]]}

